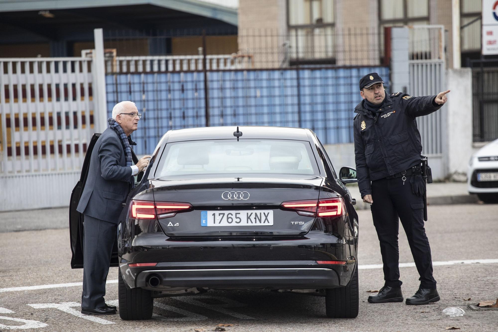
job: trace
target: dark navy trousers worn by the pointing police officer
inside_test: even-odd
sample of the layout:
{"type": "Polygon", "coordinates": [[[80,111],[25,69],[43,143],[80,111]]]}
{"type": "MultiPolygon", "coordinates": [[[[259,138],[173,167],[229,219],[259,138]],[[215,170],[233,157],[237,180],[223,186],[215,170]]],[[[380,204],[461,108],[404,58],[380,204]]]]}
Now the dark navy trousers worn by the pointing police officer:
{"type": "Polygon", "coordinates": [[[385,286],[399,287],[398,216],[420,275],[420,287],[435,289],[429,240],[425,235],[422,196],[413,193],[408,177],[372,181],[373,225],[380,242],[385,286]]]}

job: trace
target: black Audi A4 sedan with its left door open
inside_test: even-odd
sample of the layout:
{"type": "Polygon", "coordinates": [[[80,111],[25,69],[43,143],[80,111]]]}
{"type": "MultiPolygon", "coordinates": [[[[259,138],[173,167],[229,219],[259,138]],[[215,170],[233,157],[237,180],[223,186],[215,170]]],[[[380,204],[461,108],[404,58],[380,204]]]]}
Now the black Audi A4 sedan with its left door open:
{"type": "MultiPolygon", "coordinates": [[[[97,138],[71,197],[73,268],[97,138]]],[[[326,297],[328,317],[357,317],[358,215],[345,186],[356,181],[309,129],[168,131],[123,204],[111,264],[121,318],[149,319],[154,298],[235,289],[308,290],[326,297]]]]}

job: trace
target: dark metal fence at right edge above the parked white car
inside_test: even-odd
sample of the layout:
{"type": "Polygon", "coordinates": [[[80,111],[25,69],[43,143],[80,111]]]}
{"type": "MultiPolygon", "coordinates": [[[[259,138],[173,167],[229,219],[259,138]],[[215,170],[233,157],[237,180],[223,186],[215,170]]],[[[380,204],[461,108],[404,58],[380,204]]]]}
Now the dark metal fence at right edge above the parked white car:
{"type": "Polygon", "coordinates": [[[470,60],[474,142],[498,138],[498,59],[470,60]]]}

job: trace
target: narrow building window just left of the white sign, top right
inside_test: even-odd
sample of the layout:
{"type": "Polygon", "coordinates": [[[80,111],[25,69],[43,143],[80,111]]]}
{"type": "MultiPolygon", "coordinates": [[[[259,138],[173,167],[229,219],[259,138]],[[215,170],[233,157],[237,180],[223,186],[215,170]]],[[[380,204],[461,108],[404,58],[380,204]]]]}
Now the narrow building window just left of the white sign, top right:
{"type": "Polygon", "coordinates": [[[460,47],[462,52],[481,51],[482,1],[460,0],[460,47]]]}

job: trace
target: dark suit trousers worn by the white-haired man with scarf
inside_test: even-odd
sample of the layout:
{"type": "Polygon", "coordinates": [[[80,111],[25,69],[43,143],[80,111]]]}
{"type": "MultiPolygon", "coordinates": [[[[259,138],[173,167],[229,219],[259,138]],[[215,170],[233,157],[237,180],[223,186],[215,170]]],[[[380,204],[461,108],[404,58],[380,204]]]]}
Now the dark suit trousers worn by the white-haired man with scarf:
{"type": "Polygon", "coordinates": [[[105,305],[106,280],[117,228],[117,224],[85,215],[82,308],[105,305]]]}

